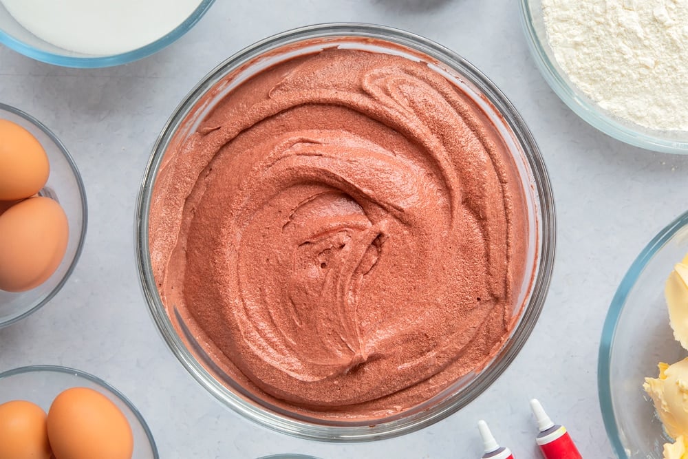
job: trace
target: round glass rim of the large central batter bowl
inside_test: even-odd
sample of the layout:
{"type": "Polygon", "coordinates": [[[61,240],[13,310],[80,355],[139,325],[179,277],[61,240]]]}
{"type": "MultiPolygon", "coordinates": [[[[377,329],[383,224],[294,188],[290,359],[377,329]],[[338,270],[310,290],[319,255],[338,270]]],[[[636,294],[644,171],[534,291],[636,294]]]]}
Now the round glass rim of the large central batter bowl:
{"type": "MultiPolygon", "coordinates": [[[[478,395],[482,394],[482,392],[484,392],[484,390],[487,389],[504,370],[506,370],[506,367],[508,367],[513,359],[515,359],[515,356],[523,347],[526,339],[530,336],[530,332],[532,332],[535,327],[537,317],[539,317],[544,305],[550,284],[555,245],[555,208],[544,160],[541,157],[533,135],[530,133],[524,120],[517,113],[515,107],[513,107],[508,98],[506,98],[501,90],[482,74],[480,70],[477,70],[471,63],[447,49],[447,47],[439,45],[429,39],[425,39],[422,36],[406,32],[405,30],[367,23],[321,23],[287,30],[286,32],[268,36],[266,39],[254,43],[217,65],[215,69],[206,74],[206,76],[204,76],[200,82],[184,96],[182,102],[175,108],[173,114],[162,128],[160,136],[158,136],[158,140],[156,140],[151,150],[151,158],[144,171],[136,203],[136,263],[142,291],[158,332],[171,352],[180,363],[182,363],[186,371],[189,372],[200,385],[208,390],[208,392],[217,398],[222,405],[233,409],[234,412],[237,412],[244,418],[283,434],[289,434],[298,438],[329,442],[379,440],[382,438],[400,436],[411,431],[417,431],[418,429],[427,427],[457,412],[460,408],[473,401],[478,395]],[[464,389],[461,393],[462,398],[459,398],[458,394],[454,393],[433,408],[422,412],[421,414],[423,417],[420,419],[413,418],[411,422],[409,422],[408,418],[400,418],[397,420],[385,421],[383,423],[376,423],[372,426],[323,425],[289,418],[288,416],[271,412],[264,407],[257,408],[251,403],[244,401],[243,398],[229,389],[226,389],[224,385],[220,384],[215,378],[209,375],[204,367],[200,365],[186,349],[186,346],[178,337],[160,301],[148,254],[148,211],[151,204],[152,185],[155,182],[158,167],[160,166],[162,156],[164,155],[169,140],[171,140],[171,137],[178,129],[183,118],[189,114],[189,110],[197,102],[198,98],[200,98],[202,94],[205,94],[206,90],[213,87],[213,85],[221,80],[222,77],[226,76],[226,74],[237,70],[241,65],[244,65],[253,58],[257,58],[264,52],[308,39],[347,36],[358,38],[374,37],[376,39],[388,41],[394,45],[403,45],[409,47],[411,50],[420,51],[428,56],[436,58],[438,61],[462,74],[471,84],[480,89],[480,92],[489,100],[495,110],[499,112],[506,125],[508,125],[509,129],[513,132],[515,142],[523,149],[524,159],[528,164],[530,173],[533,174],[534,189],[537,191],[534,205],[537,217],[539,217],[538,228],[541,231],[540,237],[538,237],[536,241],[536,254],[539,255],[539,259],[536,259],[537,266],[535,266],[533,272],[529,301],[528,303],[524,303],[521,317],[513,329],[510,339],[502,344],[502,348],[499,354],[497,354],[500,356],[500,359],[493,359],[493,361],[488,363],[490,371],[488,371],[487,374],[481,372],[475,376],[470,385],[466,386],[471,387],[472,390],[464,389]],[[430,414],[427,414],[428,412],[430,414]],[[402,423],[402,421],[407,421],[407,423],[402,423]]],[[[420,414],[416,415],[420,416],[420,414]]]]}

